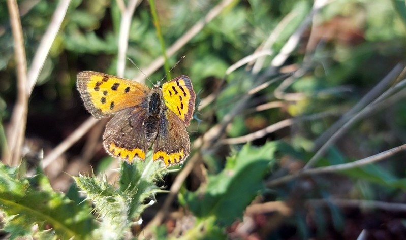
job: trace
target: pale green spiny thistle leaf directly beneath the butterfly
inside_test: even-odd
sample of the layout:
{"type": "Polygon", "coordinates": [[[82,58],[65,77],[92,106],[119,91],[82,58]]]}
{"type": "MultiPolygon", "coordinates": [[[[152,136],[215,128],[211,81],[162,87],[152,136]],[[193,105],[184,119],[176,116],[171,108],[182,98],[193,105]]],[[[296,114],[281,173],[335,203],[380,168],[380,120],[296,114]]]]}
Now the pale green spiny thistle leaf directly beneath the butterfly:
{"type": "Polygon", "coordinates": [[[154,199],[162,190],[155,184],[165,173],[160,162],[149,154],[144,161],[121,162],[119,188],[95,176],[74,177],[79,188],[92,200],[101,219],[101,227],[93,235],[100,239],[119,239],[140,218],[147,198],[154,199]]]}

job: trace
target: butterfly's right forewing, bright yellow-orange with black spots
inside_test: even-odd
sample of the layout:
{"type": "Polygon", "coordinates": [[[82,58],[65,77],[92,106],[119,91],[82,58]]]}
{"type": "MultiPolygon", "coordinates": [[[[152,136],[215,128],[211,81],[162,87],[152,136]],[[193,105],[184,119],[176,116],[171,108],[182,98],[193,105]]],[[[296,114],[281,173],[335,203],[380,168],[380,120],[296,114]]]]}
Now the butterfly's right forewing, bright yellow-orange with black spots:
{"type": "Polygon", "coordinates": [[[162,92],[166,106],[189,126],[196,99],[191,80],[184,75],[174,78],[162,85],[162,92]]]}

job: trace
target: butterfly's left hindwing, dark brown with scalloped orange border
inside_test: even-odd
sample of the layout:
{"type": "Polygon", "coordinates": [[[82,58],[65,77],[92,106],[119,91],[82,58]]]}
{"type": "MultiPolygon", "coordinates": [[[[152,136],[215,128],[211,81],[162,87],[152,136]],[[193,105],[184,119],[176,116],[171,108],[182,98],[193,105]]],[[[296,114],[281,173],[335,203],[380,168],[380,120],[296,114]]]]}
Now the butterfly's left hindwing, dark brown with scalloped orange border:
{"type": "Polygon", "coordinates": [[[117,113],[107,123],[103,134],[106,151],[130,163],[135,157],[144,160],[149,147],[145,140],[145,116],[146,109],[139,106],[117,113]]]}

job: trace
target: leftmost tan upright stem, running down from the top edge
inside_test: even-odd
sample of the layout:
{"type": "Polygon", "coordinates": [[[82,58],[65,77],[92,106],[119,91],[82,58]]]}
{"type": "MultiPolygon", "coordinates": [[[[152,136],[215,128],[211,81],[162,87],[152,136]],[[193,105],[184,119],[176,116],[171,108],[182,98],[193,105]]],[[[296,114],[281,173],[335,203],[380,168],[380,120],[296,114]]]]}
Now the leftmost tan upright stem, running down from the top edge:
{"type": "Polygon", "coordinates": [[[14,39],[14,55],[17,61],[17,102],[14,107],[8,134],[8,151],[5,153],[5,162],[17,165],[21,160],[21,149],[24,143],[24,134],[28,111],[27,87],[27,61],[24,48],[18,5],[15,0],[7,0],[10,14],[10,24],[14,39]]]}

